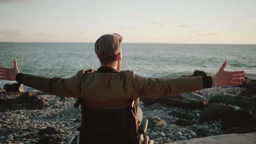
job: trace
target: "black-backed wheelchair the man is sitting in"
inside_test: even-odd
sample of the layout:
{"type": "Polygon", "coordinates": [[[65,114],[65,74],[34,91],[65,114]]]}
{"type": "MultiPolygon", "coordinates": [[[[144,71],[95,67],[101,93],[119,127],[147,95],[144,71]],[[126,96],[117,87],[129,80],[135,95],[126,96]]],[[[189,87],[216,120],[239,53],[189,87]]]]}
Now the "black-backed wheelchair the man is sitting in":
{"type": "Polygon", "coordinates": [[[143,118],[138,125],[137,108],[133,99],[123,109],[97,109],[88,107],[78,99],[74,107],[81,106],[82,123],[69,144],[153,144],[147,136],[148,119],[143,118]]]}

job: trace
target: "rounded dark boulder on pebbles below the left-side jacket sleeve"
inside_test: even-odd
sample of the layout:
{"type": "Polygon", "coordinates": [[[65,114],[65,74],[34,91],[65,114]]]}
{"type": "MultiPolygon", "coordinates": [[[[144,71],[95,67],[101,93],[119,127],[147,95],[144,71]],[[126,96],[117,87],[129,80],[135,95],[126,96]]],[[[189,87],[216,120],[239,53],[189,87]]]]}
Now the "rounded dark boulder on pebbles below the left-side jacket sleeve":
{"type": "Polygon", "coordinates": [[[35,110],[35,109],[43,109],[44,107],[48,106],[48,103],[46,103],[43,99],[41,99],[38,96],[31,96],[28,97],[27,99],[28,101],[26,101],[25,107],[26,109],[31,109],[31,110],[35,110]]]}

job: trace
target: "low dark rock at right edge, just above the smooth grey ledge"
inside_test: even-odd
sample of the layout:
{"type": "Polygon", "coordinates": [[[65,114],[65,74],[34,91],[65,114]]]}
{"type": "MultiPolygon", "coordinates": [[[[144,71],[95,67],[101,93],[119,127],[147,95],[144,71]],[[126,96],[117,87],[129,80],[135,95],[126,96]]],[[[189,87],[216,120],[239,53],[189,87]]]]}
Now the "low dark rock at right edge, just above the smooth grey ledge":
{"type": "Polygon", "coordinates": [[[256,132],[256,125],[246,125],[245,127],[232,127],[224,131],[224,134],[245,134],[256,132]]]}

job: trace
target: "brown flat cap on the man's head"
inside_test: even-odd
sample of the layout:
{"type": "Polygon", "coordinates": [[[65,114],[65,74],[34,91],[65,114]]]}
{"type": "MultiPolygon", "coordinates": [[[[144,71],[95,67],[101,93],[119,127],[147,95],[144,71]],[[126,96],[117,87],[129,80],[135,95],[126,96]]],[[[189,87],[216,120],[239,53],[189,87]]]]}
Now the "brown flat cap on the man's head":
{"type": "Polygon", "coordinates": [[[123,37],[120,34],[104,34],[95,43],[95,53],[100,61],[116,56],[122,51],[123,37]]]}

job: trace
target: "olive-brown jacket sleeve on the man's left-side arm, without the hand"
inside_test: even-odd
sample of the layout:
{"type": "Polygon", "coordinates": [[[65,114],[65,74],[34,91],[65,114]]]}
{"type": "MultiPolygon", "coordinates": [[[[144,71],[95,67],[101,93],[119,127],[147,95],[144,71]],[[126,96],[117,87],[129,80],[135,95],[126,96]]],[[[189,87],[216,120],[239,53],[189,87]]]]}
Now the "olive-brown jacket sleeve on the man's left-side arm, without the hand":
{"type": "Polygon", "coordinates": [[[23,74],[21,83],[39,91],[49,92],[53,95],[65,97],[79,97],[79,84],[83,78],[83,70],[68,79],[60,77],[42,77],[36,75],[23,74]]]}

